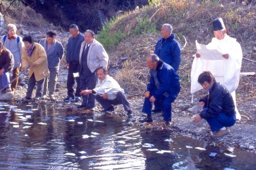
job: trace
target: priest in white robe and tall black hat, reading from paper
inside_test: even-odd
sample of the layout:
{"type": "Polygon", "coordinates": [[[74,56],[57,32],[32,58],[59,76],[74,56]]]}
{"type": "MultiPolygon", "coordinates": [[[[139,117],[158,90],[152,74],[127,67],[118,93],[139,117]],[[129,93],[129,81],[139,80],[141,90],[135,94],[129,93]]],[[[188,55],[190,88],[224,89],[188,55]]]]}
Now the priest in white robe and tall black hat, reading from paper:
{"type": "MultiPolygon", "coordinates": [[[[206,46],[210,47],[211,49],[217,49],[222,58],[218,60],[205,60],[200,58],[201,55],[199,53],[196,53],[196,58],[193,61],[193,66],[191,69],[191,76],[193,75],[193,70],[195,69],[197,73],[201,73],[205,70],[211,71],[216,81],[227,87],[228,91],[232,95],[235,104],[235,112],[237,113],[236,117],[237,120],[240,120],[241,116],[236,105],[235,90],[239,84],[243,58],[242,49],[240,44],[237,42],[237,39],[227,35],[227,30],[221,18],[216,18],[213,20],[213,30],[215,38],[213,38],[211,43],[206,46]],[[201,65],[196,65],[196,62],[200,63],[201,65]]],[[[193,78],[191,77],[191,79],[193,78]]]]}

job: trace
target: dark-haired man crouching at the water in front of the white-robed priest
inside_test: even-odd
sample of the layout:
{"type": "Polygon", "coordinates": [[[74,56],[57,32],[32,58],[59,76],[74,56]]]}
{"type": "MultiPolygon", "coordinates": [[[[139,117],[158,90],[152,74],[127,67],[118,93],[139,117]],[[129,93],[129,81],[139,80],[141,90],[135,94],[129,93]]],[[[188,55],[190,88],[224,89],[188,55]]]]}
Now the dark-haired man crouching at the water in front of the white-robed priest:
{"type": "Polygon", "coordinates": [[[231,94],[225,86],[216,83],[210,71],[204,71],[198,77],[198,83],[208,90],[208,95],[199,100],[199,109],[194,122],[205,119],[213,131],[213,137],[222,137],[230,133],[227,127],[235,124],[235,105],[231,94]]]}

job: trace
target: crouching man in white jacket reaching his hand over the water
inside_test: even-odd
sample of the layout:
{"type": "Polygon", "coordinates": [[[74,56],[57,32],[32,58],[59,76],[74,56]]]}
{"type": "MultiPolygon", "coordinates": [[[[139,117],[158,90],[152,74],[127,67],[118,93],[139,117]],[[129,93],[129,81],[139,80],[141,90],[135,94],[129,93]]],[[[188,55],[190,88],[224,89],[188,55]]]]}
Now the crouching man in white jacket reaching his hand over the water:
{"type": "Polygon", "coordinates": [[[127,116],[132,116],[132,111],[129,102],[124,94],[124,89],[121,89],[116,80],[107,75],[107,68],[100,66],[97,69],[98,83],[93,90],[83,90],[82,95],[95,94],[96,100],[104,108],[102,112],[114,111],[113,105],[124,106],[127,111],[127,116]]]}

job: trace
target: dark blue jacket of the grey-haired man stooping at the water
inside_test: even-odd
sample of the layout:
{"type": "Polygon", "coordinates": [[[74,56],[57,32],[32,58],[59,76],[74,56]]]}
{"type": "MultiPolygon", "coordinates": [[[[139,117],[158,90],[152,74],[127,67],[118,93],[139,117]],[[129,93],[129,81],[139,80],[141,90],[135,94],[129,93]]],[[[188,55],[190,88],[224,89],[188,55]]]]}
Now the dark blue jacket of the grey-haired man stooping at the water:
{"type": "Polygon", "coordinates": [[[164,63],[162,60],[159,60],[156,66],[156,75],[157,80],[160,83],[159,88],[157,89],[155,85],[154,76],[150,74],[149,84],[147,84],[147,91],[154,94],[155,98],[159,98],[164,95],[165,92],[167,92],[167,94],[175,100],[180,92],[179,75],[176,73],[176,71],[170,65],[164,63]]]}

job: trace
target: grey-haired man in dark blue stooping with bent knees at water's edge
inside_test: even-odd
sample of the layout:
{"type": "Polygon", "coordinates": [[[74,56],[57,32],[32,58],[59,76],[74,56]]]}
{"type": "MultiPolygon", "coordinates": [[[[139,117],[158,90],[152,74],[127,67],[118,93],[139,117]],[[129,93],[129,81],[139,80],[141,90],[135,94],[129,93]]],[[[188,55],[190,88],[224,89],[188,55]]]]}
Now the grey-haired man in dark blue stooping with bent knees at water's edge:
{"type": "Polygon", "coordinates": [[[147,84],[142,112],[147,114],[140,122],[152,122],[152,103],[159,100],[166,125],[171,122],[171,103],[180,92],[179,75],[156,54],[147,56],[147,67],[150,69],[150,81],[147,84]]]}

